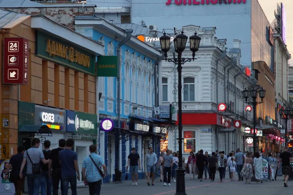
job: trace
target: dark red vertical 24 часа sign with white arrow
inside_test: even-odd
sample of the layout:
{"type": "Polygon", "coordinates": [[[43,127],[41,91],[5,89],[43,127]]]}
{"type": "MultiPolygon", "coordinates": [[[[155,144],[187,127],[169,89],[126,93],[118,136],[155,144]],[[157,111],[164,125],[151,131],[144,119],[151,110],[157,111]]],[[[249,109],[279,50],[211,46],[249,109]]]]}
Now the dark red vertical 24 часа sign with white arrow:
{"type": "Polygon", "coordinates": [[[27,39],[4,39],[3,84],[28,85],[27,39]]]}

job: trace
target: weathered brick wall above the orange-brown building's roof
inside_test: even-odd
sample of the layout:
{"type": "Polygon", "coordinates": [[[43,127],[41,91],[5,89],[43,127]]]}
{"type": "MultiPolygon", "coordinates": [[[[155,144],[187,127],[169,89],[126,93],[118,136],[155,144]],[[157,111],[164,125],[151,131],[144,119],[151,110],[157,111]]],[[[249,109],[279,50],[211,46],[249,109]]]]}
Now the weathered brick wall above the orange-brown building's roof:
{"type": "Polygon", "coordinates": [[[75,16],[92,16],[95,13],[94,7],[5,8],[5,10],[22,14],[45,15],[72,30],[74,30],[75,16]]]}

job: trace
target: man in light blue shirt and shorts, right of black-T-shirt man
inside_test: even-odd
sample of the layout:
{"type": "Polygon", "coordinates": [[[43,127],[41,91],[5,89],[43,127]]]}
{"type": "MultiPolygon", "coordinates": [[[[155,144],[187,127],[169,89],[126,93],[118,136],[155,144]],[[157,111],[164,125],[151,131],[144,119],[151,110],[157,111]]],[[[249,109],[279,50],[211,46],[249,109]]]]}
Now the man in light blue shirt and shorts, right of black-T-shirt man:
{"type": "MultiPolygon", "coordinates": [[[[175,153],[175,152],[174,152],[175,153]]],[[[148,148],[148,154],[146,154],[146,171],[147,171],[147,185],[149,186],[149,177],[151,174],[151,185],[154,186],[156,163],[158,161],[157,155],[153,153],[153,148],[148,148]]]]}

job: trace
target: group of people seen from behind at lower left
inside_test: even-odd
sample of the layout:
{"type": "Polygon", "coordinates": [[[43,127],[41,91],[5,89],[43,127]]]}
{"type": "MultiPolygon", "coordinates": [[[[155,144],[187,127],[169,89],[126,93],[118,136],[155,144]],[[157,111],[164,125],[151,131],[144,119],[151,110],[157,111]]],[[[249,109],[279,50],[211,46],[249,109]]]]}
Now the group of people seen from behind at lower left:
{"type": "Polygon", "coordinates": [[[60,139],[59,148],[50,150],[49,140],[44,141],[44,150],[40,150],[41,141],[32,139],[32,146],[25,150],[18,147],[18,154],[10,158],[4,178],[14,183],[15,195],[21,195],[24,178],[27,178],[29,195],[58,195],[61,184],[62,195],[77,195],[77,180],[89,186],[89,195],[100,195],[102,179],[106,175],[103,158],[97,154],[97,146],[89,146],[90,155],[83,160],[82,177],[78,167],[78,156],[73,151],[73,139],[60,139]],[[103,167],[104,172],[100,169],[103,167]],[[9,177],[8,177],[9,176],[9,177]]]}

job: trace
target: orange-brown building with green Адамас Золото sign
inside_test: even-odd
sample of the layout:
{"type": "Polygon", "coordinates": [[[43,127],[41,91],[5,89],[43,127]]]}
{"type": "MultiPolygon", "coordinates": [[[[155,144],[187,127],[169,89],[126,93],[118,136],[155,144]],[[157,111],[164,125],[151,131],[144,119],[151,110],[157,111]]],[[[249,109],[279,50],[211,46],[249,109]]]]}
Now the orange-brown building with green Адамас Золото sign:
{"type": "MultiPolygon", "coordinates": [[[[59,147],[59,139],[73,138],[82,169],[88,147],[98,135],[95,62],[104,46],[43,16],[1,13],[9,18],[1,26],[1,44],[11,38],[28,44],[24,47],[27,68],[7,66],[14,65],[20,74],[25,71],[27,85],[11,84],[15,75],[1,75],[5,83],[1,85],[1,117],[6,122],[1,130],[1,158],[16,154],[19,145],[30,148],[34,137],[42,143],[50,140],[51,149],[59,147]]],[[[1,50],[4,57],[6,47],[5,43],[1,50]]]]}

